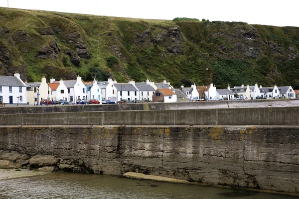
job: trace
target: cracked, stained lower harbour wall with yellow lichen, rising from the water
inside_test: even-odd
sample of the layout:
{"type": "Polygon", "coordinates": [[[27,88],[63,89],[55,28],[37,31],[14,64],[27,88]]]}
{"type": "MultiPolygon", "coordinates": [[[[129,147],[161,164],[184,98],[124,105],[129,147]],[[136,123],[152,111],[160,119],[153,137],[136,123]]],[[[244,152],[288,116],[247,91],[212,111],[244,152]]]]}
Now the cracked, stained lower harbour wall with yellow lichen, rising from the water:
{"type": "Polygon", "coordinates": [[[0,150],[52,155],[41,166],[58,170],[133,171],[290,193],[299,193],[298,143],[298,126],[0,128],[0,150]]]}

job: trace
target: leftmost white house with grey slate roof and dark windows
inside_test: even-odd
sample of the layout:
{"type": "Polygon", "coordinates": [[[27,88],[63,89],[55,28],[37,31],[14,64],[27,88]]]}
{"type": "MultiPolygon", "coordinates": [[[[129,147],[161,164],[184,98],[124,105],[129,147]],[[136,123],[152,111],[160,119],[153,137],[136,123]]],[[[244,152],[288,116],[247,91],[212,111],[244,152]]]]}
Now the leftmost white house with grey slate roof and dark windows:
{"type": "Polygon", "coordinates": [[[26,85],[20,79],[20,74],[0,76],[0,100],[3,103],[27,104],[26,85]]]}

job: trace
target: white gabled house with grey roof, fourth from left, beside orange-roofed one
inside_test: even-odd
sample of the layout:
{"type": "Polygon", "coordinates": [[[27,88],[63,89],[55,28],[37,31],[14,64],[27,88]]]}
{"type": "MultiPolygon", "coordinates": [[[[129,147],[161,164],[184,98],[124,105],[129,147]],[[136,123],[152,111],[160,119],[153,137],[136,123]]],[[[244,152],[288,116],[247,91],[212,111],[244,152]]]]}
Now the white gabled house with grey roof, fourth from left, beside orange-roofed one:
{"type": "MultiPolygon", "coordinates": [[[[59,81],[53,81],[54,79],[51,79],[51,83],[58,83],[59,81]]],[[[72,103],[75,103],[78,99],[84,99],[87,100],[86,95],[86,87],[84,83],[82,82],[81,77],[77,77],[76,80],[65,80],[64,85],[67,88],[67,101],[71,101],[72,103]]]]}

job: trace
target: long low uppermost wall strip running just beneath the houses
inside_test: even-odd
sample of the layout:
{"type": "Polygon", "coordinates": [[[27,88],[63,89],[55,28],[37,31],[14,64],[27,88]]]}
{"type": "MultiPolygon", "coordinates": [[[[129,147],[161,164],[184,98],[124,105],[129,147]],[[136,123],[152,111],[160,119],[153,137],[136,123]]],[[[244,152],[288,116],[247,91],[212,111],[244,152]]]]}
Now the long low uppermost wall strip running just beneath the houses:
{"type": "Polygon", "coordinates": [[[16,113],[49,113],[49,112],[92,112],[123,110],[182,110],[206,108],[238,108],[253,106],[273,106],[290,103],[299,99],[284,100],[230,100],[230,101],[198,101],[177,103],[129,103],[129,104],[88,104],[88,105],[48,105],[48,106],[10,106],[1,107],[0,114],[16,113]]]}

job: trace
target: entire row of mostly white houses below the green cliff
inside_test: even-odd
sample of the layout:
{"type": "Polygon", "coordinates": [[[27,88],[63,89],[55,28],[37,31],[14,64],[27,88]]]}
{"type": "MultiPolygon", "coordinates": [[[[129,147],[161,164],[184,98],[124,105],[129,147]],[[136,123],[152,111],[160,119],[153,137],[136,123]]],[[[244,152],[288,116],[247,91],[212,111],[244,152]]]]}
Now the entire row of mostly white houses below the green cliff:
{"type": "Polygon", "coordinates": [[[77,100],[149,100],[158,102],[189,101],[197,99],[232,100],[239,96],[244,100],[249,99],[275,99],[275,98],[296,98],[296,91],[288,87],[258,87],[240,86],[227,89],[216,89],[211,83],[208,86],[183,87],[174,89],[169,82],[153,83],[117,83],[112,79],[108,81],[83,82],[81,77],[76,80],[50,79],[47,83],[43,77],[41,82],[27,83],[20,79],[18,73],[14,76],[0,76],[0,101],[4,103],[38,104],[40,100],[66,100],[76,103],[77,100]]]}

